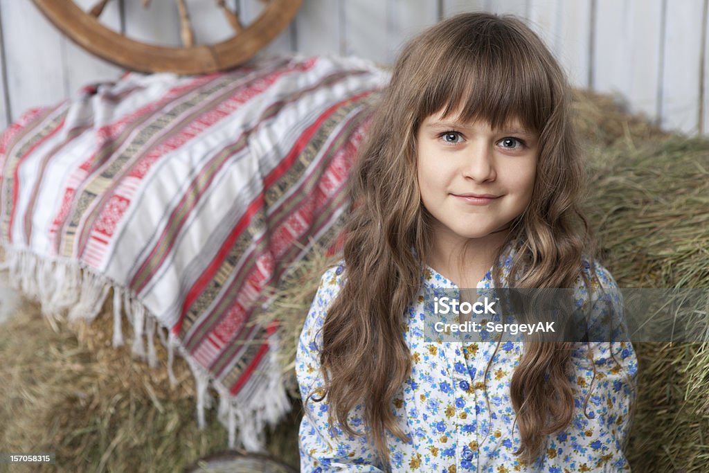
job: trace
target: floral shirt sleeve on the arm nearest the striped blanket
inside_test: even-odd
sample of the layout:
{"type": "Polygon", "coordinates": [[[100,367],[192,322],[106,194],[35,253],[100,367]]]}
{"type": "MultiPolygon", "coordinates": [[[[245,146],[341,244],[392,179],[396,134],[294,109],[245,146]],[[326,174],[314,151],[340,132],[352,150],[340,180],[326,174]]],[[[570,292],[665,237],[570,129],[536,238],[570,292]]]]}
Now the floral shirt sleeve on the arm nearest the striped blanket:
{"type": "MultiPolygon", "coordinates": [[[[342,284],[342,265],[323,274],[320,287],[303,325],[296,350],[296,375],[303,400],[303,419],[298,433],[301,472],[383,472],[376,464],[374,449],[366,435],[353,437],[342,432],[339,425],[330,429],[328,400],[313,401],[308,395],[316,392],[320,399],[323,376],[320,372],[320,351],[323,346],[321,329],[328,307],[342,284]]],[[[357,405],[349,416],[355,432],[362,425],[362,406],[357,405]]],[[[366,432],[363,430],[362,432],[366,432]]]]}

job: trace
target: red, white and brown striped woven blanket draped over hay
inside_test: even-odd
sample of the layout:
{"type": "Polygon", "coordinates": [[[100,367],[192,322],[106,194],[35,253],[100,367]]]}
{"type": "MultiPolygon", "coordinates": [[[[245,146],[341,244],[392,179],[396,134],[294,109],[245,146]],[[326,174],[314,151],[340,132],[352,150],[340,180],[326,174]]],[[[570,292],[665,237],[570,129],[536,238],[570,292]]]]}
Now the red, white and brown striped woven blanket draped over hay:
{"type": "Polygon", "coordinates": [[[212,386],[230,447],[259,450],[289,402],[258,342],[274,330],[250,316],[313,243],[335,244],[387,79],[362,60],[275,58],[130,73],[28,111],[0,138],[4,266],[54,318],[95,318],[113,294],[113,344],[129,321],[155,365],[157,330],[195,374],[200,425],[212,386]]]}

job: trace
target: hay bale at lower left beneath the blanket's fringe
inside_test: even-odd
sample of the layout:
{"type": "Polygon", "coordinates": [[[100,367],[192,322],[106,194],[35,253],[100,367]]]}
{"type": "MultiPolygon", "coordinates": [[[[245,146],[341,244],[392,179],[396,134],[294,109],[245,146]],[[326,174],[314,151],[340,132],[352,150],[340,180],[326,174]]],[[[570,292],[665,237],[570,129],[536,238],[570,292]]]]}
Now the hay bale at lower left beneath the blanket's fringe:
{"type": "MultiPolygon", "coordinates": [[[[204,430],[197,426],[186,362],[175,358],[177,386],[170,386],[159,340],[152,369],[133,359],[130,345],[113,348],[111,328],[104,313],[55,332],[29,302],[3,325],[0,360],[13,362],[0,363],[0,451],[56,453],[55,465],[28,471],[174,472],[225,448],[216,411],[207,412],[204,430]]],[[[287,425],[296,425],[297,413],[287,425]]],[[[272,453],[297,464],[294,437],[272,433],[272,453]]]]}

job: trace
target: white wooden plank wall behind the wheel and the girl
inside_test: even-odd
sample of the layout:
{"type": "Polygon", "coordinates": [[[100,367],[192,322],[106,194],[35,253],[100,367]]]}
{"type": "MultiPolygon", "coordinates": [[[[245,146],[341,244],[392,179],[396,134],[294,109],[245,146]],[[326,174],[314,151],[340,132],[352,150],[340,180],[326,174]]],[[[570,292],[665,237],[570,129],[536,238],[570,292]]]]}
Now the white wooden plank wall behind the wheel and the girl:
{"type": "MultiPolygon", "coordinates": [[[[74,0],[88,9],[96,0],[74,0]]],[[[200,43],[232,34],[213,0],[186,0],[200,43]]],[[[174,0],[113,0],[101,16],[131,38],[179,45],[174,0]]],[[[259,0],[227,0],[245,22],[259,0]]],[[[709,0],[303,0],[262,52],[359,55],[390,65],[406,40],[463,11],[512,13],[539,33],[576,87],[610,92],[666,129],[709,135],[709,0]]],[[[0,128],[121,69],[77,48],[30,0],[0,0],[0,128]]]]}

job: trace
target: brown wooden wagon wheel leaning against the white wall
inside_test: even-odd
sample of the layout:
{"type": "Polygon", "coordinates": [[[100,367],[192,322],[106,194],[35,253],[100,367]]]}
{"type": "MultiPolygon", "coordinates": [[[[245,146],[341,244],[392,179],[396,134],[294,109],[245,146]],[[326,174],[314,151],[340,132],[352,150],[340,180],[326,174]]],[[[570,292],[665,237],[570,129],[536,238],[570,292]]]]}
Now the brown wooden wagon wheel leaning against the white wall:
{"type": "Polygon", "coordinates": [[[224,0],[216,0],[215,6],[226,16],[234,34],[213,45],[194,45],[189,13],[184,0],[177,0],[182,48],[141,43],[102,25],[98,18],[110,0],[96,0],[89,11],[72,0],[33,1],[75,43],[108,62],[142,72],[201,74],[230,69],[255,55],[288,26],[302,0],[262,0],[266,5],[260,16],[247,26],[238,13],[225,6],[224,0]]]}

